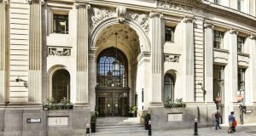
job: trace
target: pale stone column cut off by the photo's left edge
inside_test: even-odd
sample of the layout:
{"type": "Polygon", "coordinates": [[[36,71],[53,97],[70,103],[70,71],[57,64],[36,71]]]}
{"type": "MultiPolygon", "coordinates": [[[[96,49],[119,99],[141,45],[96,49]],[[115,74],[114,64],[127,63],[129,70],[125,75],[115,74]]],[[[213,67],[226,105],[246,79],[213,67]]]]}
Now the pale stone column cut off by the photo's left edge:
{"type": "Polygon", "coordinates": [[[0,0],[0,103],[6,100],[7,0],[0,0]]]}

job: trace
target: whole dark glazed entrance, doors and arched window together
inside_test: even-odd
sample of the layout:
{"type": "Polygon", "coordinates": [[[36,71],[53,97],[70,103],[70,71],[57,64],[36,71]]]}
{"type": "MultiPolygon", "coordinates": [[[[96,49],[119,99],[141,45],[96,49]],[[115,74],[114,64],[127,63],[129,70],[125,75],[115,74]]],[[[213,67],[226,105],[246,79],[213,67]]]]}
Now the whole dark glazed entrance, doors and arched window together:
{"type": "Polygon", "coordinates": [[[127,116],[130,88],[125,54],[118,48],[106,48],[98,55],[96,63],[96,106],[99,116],[127,116]]]}

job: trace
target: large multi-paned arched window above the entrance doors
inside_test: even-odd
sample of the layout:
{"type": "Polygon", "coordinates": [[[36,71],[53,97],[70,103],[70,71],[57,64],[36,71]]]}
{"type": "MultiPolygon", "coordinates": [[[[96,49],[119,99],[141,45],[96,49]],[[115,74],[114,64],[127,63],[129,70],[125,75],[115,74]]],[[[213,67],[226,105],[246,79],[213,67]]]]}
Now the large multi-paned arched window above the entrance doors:
{"type": "Polygon", "coordinates": [[[119,49],[106,48],[99,54],[97,87],[128,87],[128,63],[125,54],[119,49]]]}

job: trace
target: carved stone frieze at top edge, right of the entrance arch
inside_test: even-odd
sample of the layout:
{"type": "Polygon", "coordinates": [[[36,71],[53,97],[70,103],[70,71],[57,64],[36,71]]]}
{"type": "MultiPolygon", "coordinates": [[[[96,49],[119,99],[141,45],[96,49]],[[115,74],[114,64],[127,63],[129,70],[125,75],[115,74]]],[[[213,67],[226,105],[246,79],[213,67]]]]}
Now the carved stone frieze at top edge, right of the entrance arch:
{"type": "Polygon", "coordinates": [[[190,6],[186,6],[178,3],[172,3],[165,0],[158,0],[157,7],[192,13],[192,7],[190,6]]]}

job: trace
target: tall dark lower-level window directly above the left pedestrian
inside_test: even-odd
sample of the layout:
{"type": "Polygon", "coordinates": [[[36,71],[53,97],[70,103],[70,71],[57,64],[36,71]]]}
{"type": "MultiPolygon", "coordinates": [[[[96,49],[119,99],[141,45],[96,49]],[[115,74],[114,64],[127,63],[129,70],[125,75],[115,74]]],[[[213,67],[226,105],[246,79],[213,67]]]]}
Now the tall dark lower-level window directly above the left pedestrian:
{"type": "Polygon", "coordinates": [[[224,66],[213,65],[213,100],[224,99],[224,66]]]}

